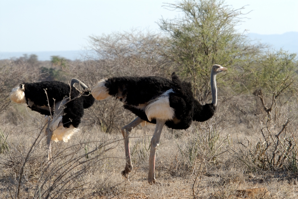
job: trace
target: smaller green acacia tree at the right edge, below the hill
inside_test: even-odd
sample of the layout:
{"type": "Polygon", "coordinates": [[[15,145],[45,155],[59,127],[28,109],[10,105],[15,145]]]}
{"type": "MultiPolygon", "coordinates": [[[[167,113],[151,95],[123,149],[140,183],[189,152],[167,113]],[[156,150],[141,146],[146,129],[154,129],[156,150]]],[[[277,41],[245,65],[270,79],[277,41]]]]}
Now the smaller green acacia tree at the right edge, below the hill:
{"type": "Polygon", "coordinates": [[[277,101],[284,104],[281,96],[289,101],[297,93],[297,55],[294,53],[269,51],[255,61],[251,74],[253,94],[260,99],[269,118],[277,101]]]}

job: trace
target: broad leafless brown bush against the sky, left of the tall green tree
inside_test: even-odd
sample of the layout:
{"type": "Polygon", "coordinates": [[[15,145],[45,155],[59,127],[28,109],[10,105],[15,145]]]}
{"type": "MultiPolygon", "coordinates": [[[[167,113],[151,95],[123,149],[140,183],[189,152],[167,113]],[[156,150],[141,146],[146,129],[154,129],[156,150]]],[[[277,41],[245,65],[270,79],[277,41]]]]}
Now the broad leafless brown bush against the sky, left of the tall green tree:
{"type": "Polygon", "coordinates": [[[163,76],[173,72],[173,62],[163,57],[165,38],[161,34],[133,30],[90,37],[97,54],[97,74],[104,76],[163,76]]]}

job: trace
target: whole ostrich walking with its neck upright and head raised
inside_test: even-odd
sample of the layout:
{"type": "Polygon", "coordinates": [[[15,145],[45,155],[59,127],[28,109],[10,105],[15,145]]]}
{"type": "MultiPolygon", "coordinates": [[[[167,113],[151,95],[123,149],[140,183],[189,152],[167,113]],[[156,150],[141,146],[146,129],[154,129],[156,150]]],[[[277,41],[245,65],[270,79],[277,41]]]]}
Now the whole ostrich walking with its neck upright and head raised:
{"type": "Polygon", "coordinates": [[[146,121],[156,123],[155,132],[150,142],[148,182],[156,182],[154,176],[155,154],[164,125],[172,129],[187,129],[192,121],[203,122],[214,115],[217,104],[216,74],[227,70],[220,65],[213,65],[211,70],[212,103],[201,105],[193,97],[190,82],[181,82],[175,72],[172,80],[162,77],[113,77],[103,79],[91,91],[97,100],[109,96],[118,98],[124,108],[137,117],[121,130],[124,138],[126,164],[121,173],[128,177],[132,170],[128,136],[131,130],[146,121]]]}

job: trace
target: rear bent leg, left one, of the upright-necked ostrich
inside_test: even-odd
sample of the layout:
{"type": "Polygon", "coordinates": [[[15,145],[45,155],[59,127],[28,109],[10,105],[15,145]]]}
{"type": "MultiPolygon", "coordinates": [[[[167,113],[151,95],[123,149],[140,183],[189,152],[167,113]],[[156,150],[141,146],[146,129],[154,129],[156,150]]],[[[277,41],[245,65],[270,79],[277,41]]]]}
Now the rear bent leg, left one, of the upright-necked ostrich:
{"type": "Polygon", "coordinates": [[[121,129],[121,132],[124,138],[124,149],[125,149],[125,159],[126,159],[125,169],[124,171],[121,172],[121,174],[126,178],[128,178],[128,173],[131,172],[132,170],[128,136],[131,130],[134,129],[134,127],[138,126],[143,121],[144,120],[137,117],[134,121],[132,121],[131,123],[129,123],[128,125],[124,126],[121,129]]]}

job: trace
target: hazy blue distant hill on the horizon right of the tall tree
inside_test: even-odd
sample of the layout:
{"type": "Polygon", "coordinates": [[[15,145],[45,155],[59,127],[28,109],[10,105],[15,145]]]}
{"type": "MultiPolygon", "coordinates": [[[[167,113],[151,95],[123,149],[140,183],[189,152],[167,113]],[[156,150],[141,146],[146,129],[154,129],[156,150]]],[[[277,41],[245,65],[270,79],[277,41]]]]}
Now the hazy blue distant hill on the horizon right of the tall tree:
{"type": "Polygon", "coordinates": [[[260,35],[257,33],[249,33],[248,36],[252,40],[259,40],[261,43],[271,45],[271,48],[276,50],[283,48],[285,51],[298,53],[298,32],[286,32],[281,35],[260,35]]]}

